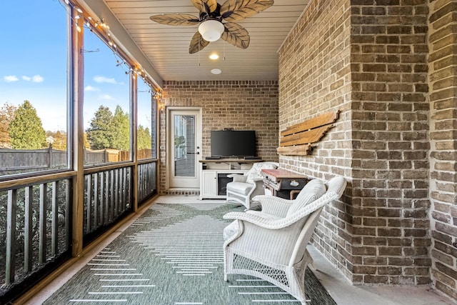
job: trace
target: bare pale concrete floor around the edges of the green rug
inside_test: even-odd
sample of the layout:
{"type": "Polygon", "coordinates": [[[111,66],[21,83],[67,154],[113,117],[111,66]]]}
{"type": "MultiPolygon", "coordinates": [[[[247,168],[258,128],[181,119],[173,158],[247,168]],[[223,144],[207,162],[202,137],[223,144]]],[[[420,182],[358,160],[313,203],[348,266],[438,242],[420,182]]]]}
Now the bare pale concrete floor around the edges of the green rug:
{"type": "MultiPolygon", "coordinates": [[[[159,196],[156,202],[169,204],[182,204],[191,201],[202,201],[194,196],[159,196]]],[[[204,200],[204,202],[214,203],[214,200],[204,200]]],[[[140,215],[138,215],[140,216],[140,215]]],[[[137,218],[137,217],[136,217],[137,218]]],[[[96,254],[106,247],[111,241],[116,239],[135,219],[131,219],[108,239],[101,242],[89,254],[79,259],[69,270],[61,274],[57,279],[51,282],[45,289],[30,299],[26,305],[36,305],[43,303],[57,289],[59,289],[71,276],[76,274],[79,269],[85,266],[96,254]]],[[[308,246],[308,251],[313,257],[313,270],[317,278],[326,287],[328,293],[338,305],[452,305],[456,301],[448,299],[439,291],[431,289],[430,286],[418,287],[393,287],[393,286],[353,286],[346,278],[335,269],[330,261],[322,256],[313,246],[308,246]]]]}

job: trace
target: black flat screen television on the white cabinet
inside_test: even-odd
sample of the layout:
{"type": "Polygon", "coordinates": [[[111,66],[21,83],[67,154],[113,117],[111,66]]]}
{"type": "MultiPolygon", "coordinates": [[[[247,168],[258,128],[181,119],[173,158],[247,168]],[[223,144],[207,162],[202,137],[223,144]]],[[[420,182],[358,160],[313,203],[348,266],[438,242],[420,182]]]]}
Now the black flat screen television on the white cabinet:
{"type": "Polygon", "coordinates": [[[211,156],[256,156],[256,131],[211,131],[211,156]]]}

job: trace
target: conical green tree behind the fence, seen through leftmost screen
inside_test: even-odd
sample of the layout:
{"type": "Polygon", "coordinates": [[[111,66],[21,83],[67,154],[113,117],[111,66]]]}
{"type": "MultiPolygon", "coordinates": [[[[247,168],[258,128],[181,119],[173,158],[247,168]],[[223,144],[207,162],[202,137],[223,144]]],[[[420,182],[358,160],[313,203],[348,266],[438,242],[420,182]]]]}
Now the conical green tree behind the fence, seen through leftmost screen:
{"type": "Polygon", "coordinates": [[[36,109],[24,101],[9,123],[11,147],[14,149],[41,149],[46,146],[46,133],[36,109]]]}

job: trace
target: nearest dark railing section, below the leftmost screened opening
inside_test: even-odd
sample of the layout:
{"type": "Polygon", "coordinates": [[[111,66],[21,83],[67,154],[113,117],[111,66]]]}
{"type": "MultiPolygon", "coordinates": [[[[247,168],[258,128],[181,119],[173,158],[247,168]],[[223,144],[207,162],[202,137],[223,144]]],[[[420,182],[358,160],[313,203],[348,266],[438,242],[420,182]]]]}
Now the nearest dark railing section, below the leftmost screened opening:
{"type": "Polygon", "coordinates": [[[2,290],[56,257],[69,255],[71,180],[55,176],[0,189],[2,290]]]}

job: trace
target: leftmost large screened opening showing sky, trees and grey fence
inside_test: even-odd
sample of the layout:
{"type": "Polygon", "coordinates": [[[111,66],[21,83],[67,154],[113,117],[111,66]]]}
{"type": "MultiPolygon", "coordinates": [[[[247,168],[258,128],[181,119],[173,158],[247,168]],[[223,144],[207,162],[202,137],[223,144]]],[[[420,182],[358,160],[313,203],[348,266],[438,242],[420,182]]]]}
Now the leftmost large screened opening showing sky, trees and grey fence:
{"type": "Polygon", "coordinates": [[[66,11],[0,1],[0,26],[0,177],[68,169],[66,11]]]}

